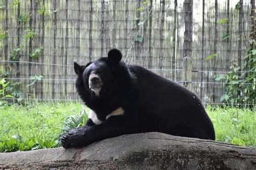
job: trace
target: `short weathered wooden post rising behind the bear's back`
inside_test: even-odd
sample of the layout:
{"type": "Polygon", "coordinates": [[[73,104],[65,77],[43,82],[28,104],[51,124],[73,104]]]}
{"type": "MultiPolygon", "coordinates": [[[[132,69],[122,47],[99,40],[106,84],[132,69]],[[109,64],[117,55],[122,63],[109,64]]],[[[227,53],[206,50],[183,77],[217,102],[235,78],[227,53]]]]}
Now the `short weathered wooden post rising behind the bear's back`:
{"type": "Polygon", "coordinates": [[[182,82],[184,87],[192,90],[192,59],[189,56],[183,58],[182,82]]]}

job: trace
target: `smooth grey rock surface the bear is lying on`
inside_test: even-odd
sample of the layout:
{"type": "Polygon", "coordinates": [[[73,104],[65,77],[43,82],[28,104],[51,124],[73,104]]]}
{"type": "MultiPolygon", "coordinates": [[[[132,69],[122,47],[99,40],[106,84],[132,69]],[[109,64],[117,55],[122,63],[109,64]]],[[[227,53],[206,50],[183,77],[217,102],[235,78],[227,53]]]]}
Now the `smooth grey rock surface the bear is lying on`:
{"type": "Polygon", "coordinates": [[[256,169],[256,148],[157,132],[138,133],[83,148],[0,153],[1,168],[256,169]]]}

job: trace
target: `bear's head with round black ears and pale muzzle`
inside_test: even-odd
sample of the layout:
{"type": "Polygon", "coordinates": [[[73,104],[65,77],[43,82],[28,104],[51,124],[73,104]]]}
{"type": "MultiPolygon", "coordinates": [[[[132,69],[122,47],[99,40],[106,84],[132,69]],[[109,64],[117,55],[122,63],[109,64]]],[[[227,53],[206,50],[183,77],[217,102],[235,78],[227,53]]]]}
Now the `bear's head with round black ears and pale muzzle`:
{"type": "Polygon", "coordinates": [[[121,59],[122,53],[118,49],[111,49],[107,58],[100,58],[82,66],[74,62],[78,76],[76,88],[84,102],[89,100],[88,98],[102,98],[114,90],[116,79],[113,72],[120,65],[121,59]]]}

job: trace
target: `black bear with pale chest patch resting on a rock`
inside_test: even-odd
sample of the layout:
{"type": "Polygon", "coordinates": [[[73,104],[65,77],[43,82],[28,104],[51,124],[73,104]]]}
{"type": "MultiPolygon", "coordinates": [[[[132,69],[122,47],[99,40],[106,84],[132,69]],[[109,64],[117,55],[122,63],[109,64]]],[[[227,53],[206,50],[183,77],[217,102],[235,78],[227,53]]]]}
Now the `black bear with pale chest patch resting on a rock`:
{"type": "Polygon", "coordinates": [[[138,65],[126,65],[122,53],[78,65],[76,89],[91,109],[83,128],[62,137],[62,146],[79,147],[122,134],[162,132],[215,140],[212,122],[191,91],[138,65]]]}

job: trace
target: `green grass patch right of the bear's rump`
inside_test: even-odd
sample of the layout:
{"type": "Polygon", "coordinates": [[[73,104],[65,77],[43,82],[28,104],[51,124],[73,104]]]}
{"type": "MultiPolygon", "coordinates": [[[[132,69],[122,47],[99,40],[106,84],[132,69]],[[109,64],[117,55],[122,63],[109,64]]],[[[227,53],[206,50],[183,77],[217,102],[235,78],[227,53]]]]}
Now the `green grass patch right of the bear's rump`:
{"type": "Polygon", "coordinates": [[[211,107],[206,111],[215,129],[217,141],[241,146],[256,146],[256,108],[242,110],[230,107],[211,107]]]}

